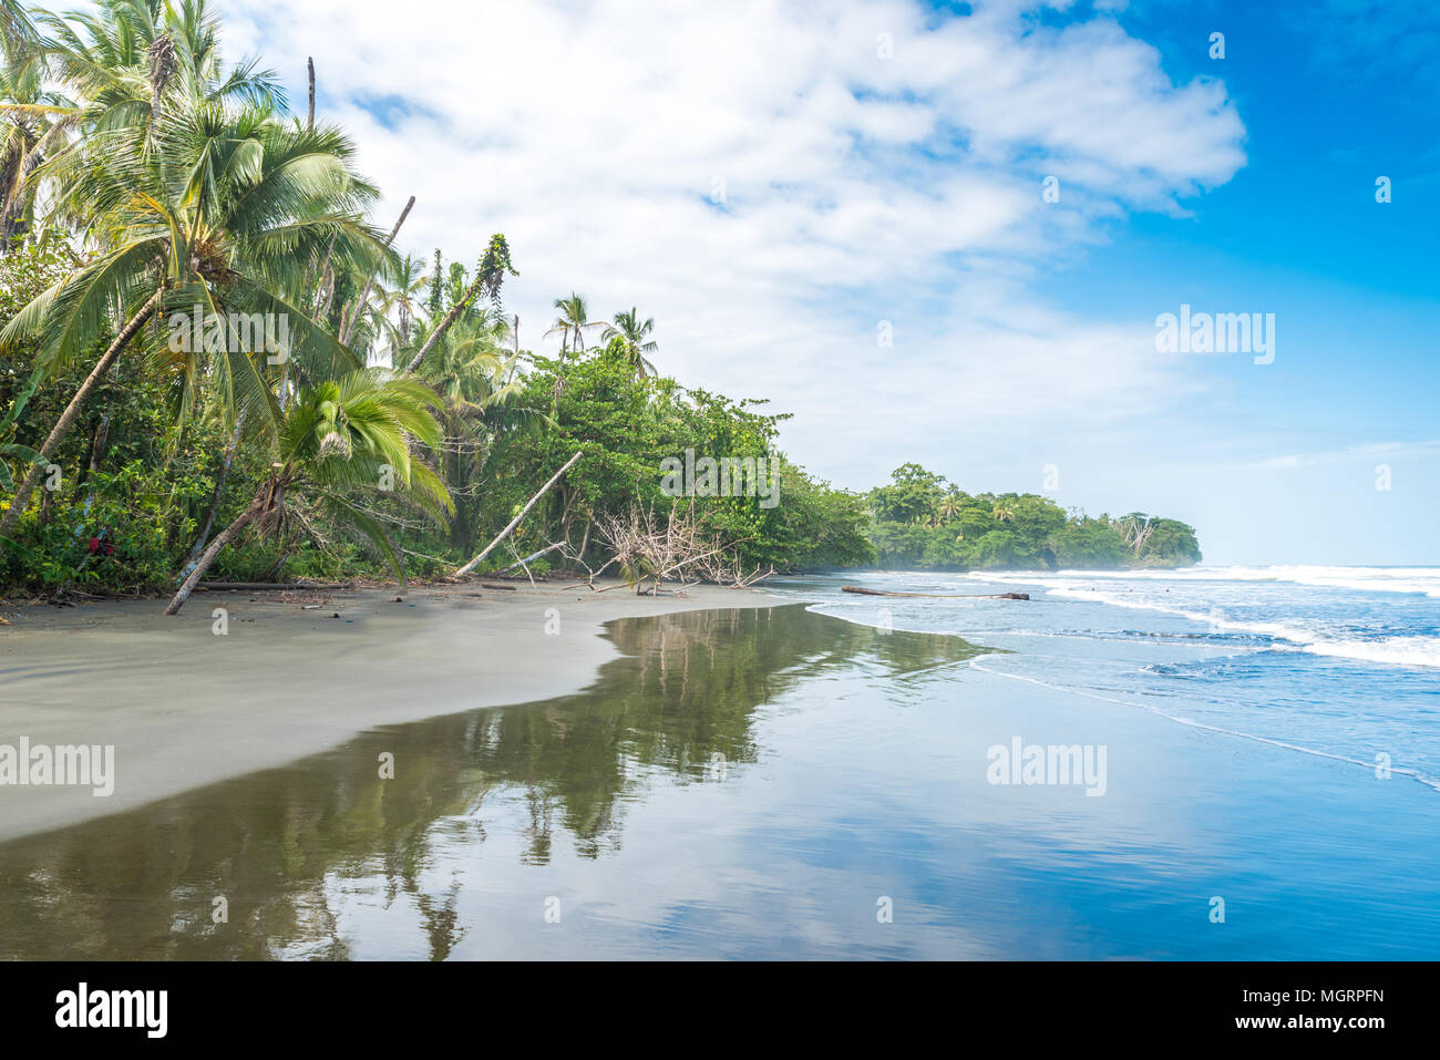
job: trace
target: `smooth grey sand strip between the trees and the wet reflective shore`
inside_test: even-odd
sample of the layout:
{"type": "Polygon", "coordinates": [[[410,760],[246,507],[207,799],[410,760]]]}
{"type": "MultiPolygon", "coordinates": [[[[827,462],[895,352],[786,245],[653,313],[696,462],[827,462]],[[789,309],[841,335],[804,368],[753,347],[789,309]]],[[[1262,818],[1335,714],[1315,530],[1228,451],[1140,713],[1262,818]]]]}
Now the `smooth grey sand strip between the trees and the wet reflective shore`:
{"type": "Polygon", "coordinates": [[[0,785],[0,843],[282,766],[370,729],[582,691],[621,657],[603,628],[616,619],[788,602],[757,589],[651,598],[608,585],[382,586],[304,601],[209,592],[174,618],[154,601],[10,606],[0,745],[114,746],[115,782],[108,796],[0,785]]]}

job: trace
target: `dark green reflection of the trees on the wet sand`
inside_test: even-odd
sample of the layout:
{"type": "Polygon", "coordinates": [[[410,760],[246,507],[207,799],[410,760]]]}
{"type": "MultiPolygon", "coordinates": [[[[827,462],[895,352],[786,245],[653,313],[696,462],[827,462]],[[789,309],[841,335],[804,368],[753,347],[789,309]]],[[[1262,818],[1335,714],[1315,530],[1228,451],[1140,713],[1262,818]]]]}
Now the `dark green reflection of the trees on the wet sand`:
{"type": "Polygon", "coordinates": [[[899,687],[942,668],[953,680],[949,664],[976,654],[953,637],[886,634],[801,606],[624,619],[609,632],[626,658],[582,694],[367,732],[281,769],[0,847],[0,956],[343,959],[354,938],[337,899],[373,886],[379,910],[366,923],[403,897],[416,916],[395,925],[419,923],[429,956],[444,959],[484,925],[464,922],[459,883],[431,870],[484,858],[487,827],[516,828],[514,815],[487,812],[497,801],[526,805],[507,844],[520,863],[544,866],[557,844],[603,858],[657,776],[704,783],[753,763],[757,709],[801,680],[855,667],[899,687]],[[380,778],[386,752],[393,779],[380,778]]]}

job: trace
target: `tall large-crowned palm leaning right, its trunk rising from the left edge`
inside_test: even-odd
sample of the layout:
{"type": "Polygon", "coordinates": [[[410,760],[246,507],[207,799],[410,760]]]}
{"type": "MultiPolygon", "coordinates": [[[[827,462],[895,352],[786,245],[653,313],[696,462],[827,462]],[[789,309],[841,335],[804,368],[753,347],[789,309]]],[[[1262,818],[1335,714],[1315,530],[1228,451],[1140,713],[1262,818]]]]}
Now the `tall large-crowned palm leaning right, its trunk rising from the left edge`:
{"type": "MultiPolygon", "coordinates": [[[[206,318],[226,321],[170,366],[183,373],[189,402],[200,372],[194,354],[209,354],[229,415],[249,410],[255,423],[275,403],[269,357],[253,344],[245,349],[229,314],[285,321],[289,350],[281,360],[287,376],[297,372],[297,385],[359,367],[347,347],[282,295],[301,288],[307,264],[323,253],[372,269],[393,256],[357,220],[376,193],[354,174],[351,156],[350,141],[334,128],[308,131],[281,125],[265,109],[232,114],[180,102],[153,131],[94,132],[82,150],[46,163],[60,209],[82,222],[96,255],[20,310],[0,331],[0,349],[33,343],[37,364],[53,373],[107,331],[115,310],[124,323],[40,455],[55,454],[101,377],[161,313],[174,324],[173,314],[199,307],[206,318]]],[[[147,341],[157,343],[154,336],[147,341]]],[[[32,467],[0,520],[0,537],[10,534],[39,475],[39,465],[32,467]]]]}

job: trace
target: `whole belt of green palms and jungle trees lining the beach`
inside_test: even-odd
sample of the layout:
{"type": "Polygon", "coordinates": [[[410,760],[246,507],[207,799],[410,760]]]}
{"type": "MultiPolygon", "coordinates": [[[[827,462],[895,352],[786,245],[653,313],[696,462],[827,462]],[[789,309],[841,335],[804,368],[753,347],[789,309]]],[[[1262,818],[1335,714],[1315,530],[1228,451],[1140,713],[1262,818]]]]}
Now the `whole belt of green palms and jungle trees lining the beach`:
{"type": "Polygon", "coordinates": [[[570,291],[524,347],[505,238],[403,253],[415,200],[377,222],[347,132],[232,63],[206,0],[0,0],[0,589],[173,612],[203,580],[438,578],[518,514],[480,570],[603,569],[636,513],[739,578],[1198,559],[1172,520],[916,465],[832,488],[779,452],[783,412],[665,374],[636,305],[570,291]],[[687,452],[770,462],[782,503],[674,495],[687,452]]]}

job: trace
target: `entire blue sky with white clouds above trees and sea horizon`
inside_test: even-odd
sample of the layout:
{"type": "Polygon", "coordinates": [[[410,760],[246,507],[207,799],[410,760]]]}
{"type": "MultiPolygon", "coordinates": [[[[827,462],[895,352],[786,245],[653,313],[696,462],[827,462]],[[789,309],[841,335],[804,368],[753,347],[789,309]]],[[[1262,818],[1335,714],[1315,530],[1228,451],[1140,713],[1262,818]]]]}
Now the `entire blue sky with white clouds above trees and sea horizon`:
{"type": "Polygon", "coordinates": [[[840,487],[914,461],[1207,563],[1440,563],[1427,0],[220,13],[297,109],[314,56],[376,225],[416,196],[400,249],[505,233],[523,347],[577,291],[840,487]],[[1182,304],[1273,314],[1273,360],[1161,349],[1182,304]]]}

